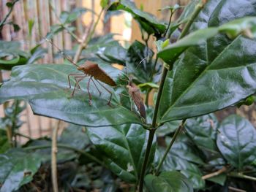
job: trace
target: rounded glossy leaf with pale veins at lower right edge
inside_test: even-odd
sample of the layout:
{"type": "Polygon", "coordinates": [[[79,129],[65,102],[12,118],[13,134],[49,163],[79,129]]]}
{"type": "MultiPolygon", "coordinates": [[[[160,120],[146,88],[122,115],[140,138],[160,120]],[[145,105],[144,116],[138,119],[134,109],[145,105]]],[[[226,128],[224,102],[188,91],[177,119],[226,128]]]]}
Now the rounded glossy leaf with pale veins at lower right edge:
{"type": "Polygon", "coordinates": [[[219,126],[217,145],[229,164],[239,170],[256,158],[256,130],[248,120],[231,115],[219,126]]]}

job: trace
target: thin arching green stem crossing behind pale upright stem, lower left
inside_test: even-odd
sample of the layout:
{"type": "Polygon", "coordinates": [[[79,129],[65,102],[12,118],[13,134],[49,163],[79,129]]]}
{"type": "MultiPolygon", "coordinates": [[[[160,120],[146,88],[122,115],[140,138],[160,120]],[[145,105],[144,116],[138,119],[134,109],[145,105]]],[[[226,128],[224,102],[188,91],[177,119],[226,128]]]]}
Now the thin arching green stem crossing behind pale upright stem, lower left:
{"type": "MultiPolygon", "coordinates": [[[[39,145],[39,146],[26,147],[26,148],[24,148],[24,150],[41,150],[41,149],[47,149],[47,148],[50,148],[50,147],[51,147],[51,145],[39,145]]],[[[95,158],[93,155],[91,155],[90,153],[87,153],[86,151],[78,150],[75,147],[72,147],[70,145],[65,145],[65,144],[58,144],[57,147],[65,148],[67,150],[73,150],[76,153],[80,153],[82,155],[85,155],[87,158],[91,159],[92,161],[95,161],[97,164],[105,166],[105,164],[102,161],[99,161],[99,159],[95,158]]]]}

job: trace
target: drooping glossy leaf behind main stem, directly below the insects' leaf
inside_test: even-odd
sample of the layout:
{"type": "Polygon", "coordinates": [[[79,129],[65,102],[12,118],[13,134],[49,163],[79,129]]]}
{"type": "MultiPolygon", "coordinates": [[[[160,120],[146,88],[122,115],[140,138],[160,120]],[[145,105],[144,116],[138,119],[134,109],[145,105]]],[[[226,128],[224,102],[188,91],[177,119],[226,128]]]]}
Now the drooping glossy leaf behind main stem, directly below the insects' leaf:
{"type": "MultiPolygon", "coordinates": [[[[129,183],[136,183],[143,164],[148,131],[142,126],[129,124],[87,128],[91,142],[96,145],[108,169],[129,183]]],[[[155,140],[149,164],[153,161],[155,140]]]]}

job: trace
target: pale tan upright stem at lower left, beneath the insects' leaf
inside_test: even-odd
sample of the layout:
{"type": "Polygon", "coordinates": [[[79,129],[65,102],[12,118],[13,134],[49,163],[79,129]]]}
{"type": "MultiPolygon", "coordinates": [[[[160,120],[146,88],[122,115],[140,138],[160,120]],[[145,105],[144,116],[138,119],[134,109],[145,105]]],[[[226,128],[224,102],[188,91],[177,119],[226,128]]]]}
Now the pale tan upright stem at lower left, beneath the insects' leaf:
{"type": "MultiPolygon", "coordinates": [[[[59,121],[60,122],[60,121],[59,121]]],[[[57,138],[59,126],[53,128],[52,145],[51,145],[51,177],[53,182],[53,192],[58,192],[58,170],[57,170],[57,138]]]]}

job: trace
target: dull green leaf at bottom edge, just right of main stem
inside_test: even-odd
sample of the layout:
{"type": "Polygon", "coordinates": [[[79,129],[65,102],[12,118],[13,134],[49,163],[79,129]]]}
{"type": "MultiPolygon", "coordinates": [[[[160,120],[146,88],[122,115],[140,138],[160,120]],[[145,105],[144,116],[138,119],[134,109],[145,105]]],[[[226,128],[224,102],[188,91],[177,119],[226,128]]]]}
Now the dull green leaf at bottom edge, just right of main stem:
{"type": "Polygon", "coordinates": [[[150,192],[192,192],[192,183],[180,172],[162,172],[158,177],[148,174],[146,188],[150,192]]]}

